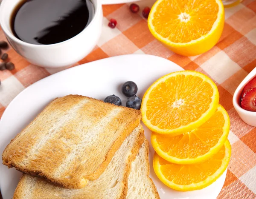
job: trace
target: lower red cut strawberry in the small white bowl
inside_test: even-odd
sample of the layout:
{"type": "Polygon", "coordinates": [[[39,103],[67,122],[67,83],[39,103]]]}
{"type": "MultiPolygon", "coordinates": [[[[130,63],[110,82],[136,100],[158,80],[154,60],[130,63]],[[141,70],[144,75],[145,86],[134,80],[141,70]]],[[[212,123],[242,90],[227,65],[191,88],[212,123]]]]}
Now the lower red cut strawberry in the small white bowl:
{"type": "Polygon", "coordinates": [[[256,88],[251,88],[244,93],[241,99],[241,107],[247,111],[256,112],[256,88]]]}

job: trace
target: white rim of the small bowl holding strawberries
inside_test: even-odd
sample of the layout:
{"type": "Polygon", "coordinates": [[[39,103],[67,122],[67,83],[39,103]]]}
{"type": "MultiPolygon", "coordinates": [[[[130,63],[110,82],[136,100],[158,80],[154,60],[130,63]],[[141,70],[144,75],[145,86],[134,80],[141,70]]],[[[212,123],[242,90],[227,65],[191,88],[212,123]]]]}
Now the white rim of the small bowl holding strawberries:
{"type": "Polygon", "coordinates": [[[244,89],[244,86],[250,82],[250,80],[253,79],[253,77],[256,77],[256,68],[254,68],[245,78],[244,80],[239,84],[239,86],[236,88],[236,91],[234,93],[233,96],[233,106],[234,108],[239,111],[242,112],[244,114],[247,114],[247,116],[249,117],[256,117],[256,112],[252,112],[252,111],[247,111],[244,110],[243,108],[241,108],[240,106],[240,98],[241,98],[241,92],[244,89]]]}

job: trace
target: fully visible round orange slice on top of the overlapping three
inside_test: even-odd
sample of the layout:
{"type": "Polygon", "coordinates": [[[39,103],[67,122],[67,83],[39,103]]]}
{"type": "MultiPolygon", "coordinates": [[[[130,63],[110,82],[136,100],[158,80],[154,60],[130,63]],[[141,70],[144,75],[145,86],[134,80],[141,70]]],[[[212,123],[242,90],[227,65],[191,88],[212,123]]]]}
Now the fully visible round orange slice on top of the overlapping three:
{"type": "Polygon", "coordinates": [[[148,88],[140,110],[151,131],[175,136],[206,122],[218,102],[218,88],[209,77],[197,71],[178,71],[148,88]]]}

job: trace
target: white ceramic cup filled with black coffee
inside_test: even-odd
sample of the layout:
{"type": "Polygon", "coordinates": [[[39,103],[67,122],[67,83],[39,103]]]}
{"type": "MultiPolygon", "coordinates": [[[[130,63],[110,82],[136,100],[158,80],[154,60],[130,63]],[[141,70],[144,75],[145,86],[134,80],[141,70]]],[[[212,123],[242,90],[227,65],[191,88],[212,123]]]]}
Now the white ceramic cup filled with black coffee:
{"type": "Polygon", "coordinates": [[[91,0],[95,7],[95,14],[93,20],[83,31],[69,40],[50,45],[26,43],[14,36],[10,26],[10,18],[12,11],[20,1],[2,0],[0,26],[15,51],[30,63],[46,68],[67,67],[89,54],[98,42],[103,21],[100,0],[91,0]]]}

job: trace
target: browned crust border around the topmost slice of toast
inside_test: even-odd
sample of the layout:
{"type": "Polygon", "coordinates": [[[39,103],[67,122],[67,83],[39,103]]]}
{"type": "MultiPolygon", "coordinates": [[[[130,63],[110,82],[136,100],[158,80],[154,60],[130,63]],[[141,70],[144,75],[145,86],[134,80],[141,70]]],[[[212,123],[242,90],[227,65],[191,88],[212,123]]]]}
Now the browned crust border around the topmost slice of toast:
{"type": "MultiPolygon", "coordinates": [[[[65,107],[63,109],[65,109],[65,107]]],[[[61,111],[65,111],[65,110],[61,110],[61,111]]],[[[121,115],[120,117],[124,117],[124,116],[121,115]]],[[[89,180],[95,180],[99,178],[99,176],[105,171],[105,168],[108,166],[115,152],[122,145],[122,142],[125,140],[125,138],[140,124],[140,120],[141,120],[140,111],[134,110],[131,108],[126,108],[126,107],[118,107],[110,103],[102,102],[98,99],[83,97],[79,95],[69,95],[62,98],[56,98],[49,105],[47,105],[47,107],[40,114],[38,114],[38,116],[32,122],[30,122],[30,124],[26,128],[24,128],[23,131],[21,131],[14,139],[12,139],[9,145],[7,145],[6,149],[3,151],[3,154],[2,154],[3,164],[7,165],[9,168],[15,167],[18,171],[27,173],[32,176],[41,176],[47,179],[47,181],[52,182],[55,185],[63,186],[64,188],[71,188],[71,189],[83,188],[89,180]],[[15,152],[13,153],[12,148],[14,148],[15,145],[19,143],[19,139],[22,139],[23,132],[27,131],[32,126],[33,122],[34,123],[37,122],[37,119],[41,117],[42,114],[46,114],[47,111],[49,110],[52,111],[52,110],[55,110],[55,108],[60,107],[61,105],[63,105],[63,101],[67,102],[67,108],[69,108],[70,104],[71,105],[73,105],[73,103],[78,104],[79,102],[81,102],[81,100],[93,101],[93,103],[96,103],[99,105],[102,105],[104,103],[104,106],[108,107],[109,110],[113,108],[119,108],[123,111],[123,113],[129,113],[127,115],[132,116],[131,118],[128,118],[129,122],[127,122],[127,124],[125,125],[126,128],[123,129],[123,131],[119,134],[118,138],[109,147],[108,152],[106,153],[106,156],[105,156],[105,160],[99,165],[98,168],[96,168],[96,171],[94,171],[89,175],[84,175],[82,171],[80,171],[81,172],[80,176],[74,176],[72,179],[73,181],[68,181],[63,178],[53,177],[51,172],[47,173],[47,168],[34,169],[34,167],[32,166],[29,167],[29,165],[20,164],[20,161],[23,160],[24,157],[26,157],[26,152],[24,152],[26,151],[25,149],[19,154],[18,157],[15,157],[16,159],[18,159],[18,161],[16,161],[16,159],[13,159],[13,156],[17,155],[17,153],[16,154],[15,152]],[[54,107],[52,107],[52,104],[54,104],[54,107]]],[[[31,145],[33,147],[33,144],[31,145]]],[[[71,173],[71,175],[73,174],[71,173]]]]}

